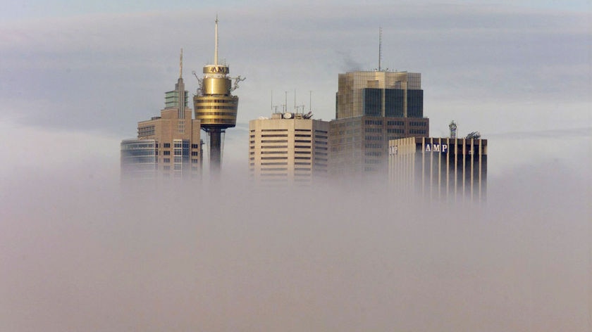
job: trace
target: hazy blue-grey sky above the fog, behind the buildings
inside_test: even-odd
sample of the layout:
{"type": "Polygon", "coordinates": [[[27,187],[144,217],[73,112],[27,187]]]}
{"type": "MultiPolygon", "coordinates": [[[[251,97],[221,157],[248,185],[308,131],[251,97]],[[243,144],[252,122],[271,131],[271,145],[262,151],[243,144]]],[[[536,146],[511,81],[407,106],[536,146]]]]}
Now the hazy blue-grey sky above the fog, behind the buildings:
{"type": "MultiPolygon", "coordinates": [[[[447,135],[450,120],[461,135],[484,137],[591,127],[590,1],[3,6],[2,121],[38,135],[135,136],[173,89],[181,47],[186,87],[197,89],[191,72],[213,60],[216,13],[220,56],[231,75],[247,77],[226,158],[245,160],[245,125],[271,113],[272,91],[280,109],[285,91],[290,109],[294,91],[307,108],[312,94],[316,118],[331,120],[338,73],[378,66],[378,27],[383,68],[421,72],[432,136],[447,135]]],[[[104,151],[116,157],[113,146],[104,151]]]]}

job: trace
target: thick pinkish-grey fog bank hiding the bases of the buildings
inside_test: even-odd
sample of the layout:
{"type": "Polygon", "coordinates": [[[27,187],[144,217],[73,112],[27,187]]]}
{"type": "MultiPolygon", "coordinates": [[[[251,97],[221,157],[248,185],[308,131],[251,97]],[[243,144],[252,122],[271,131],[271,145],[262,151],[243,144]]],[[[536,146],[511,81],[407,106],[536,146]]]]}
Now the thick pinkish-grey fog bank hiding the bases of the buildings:
{"type": "Polygon", "coordinates": [[[590,181],[562,165],[495,177],[481,208],[75,166],[0,189],[2,330],[589,330],[590,181]]]}

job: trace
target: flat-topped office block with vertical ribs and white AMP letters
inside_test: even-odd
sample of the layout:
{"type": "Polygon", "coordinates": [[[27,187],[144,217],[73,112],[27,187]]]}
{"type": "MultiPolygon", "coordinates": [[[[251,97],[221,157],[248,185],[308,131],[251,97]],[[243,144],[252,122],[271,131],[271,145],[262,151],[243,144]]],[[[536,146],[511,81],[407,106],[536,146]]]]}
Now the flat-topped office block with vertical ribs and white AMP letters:
{"type": "MultiPolygon", "coordinates": [[[[469,136],[470,137],[470,136],[469,136]]],[[[388,142],[388,179],[396,191],[428,198],[485,200],[487,140],[412,137],[388,142]]]]}

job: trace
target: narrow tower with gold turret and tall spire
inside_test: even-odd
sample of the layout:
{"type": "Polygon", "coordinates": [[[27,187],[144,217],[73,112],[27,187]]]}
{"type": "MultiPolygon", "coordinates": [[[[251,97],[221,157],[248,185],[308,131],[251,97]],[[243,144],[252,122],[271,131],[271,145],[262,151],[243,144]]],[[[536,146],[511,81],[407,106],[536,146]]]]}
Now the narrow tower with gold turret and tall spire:
{"type": "Polygon", "coordinates": [[[210,172],[218,174],[222,164],[224,133],[236,125],[238,96],[231,92],[238,87],[240,76],[233,87],[228,65],[218,63],[218,16],[216,16],[216,46],[214,64],[204,67],[204,77],[199,79],[199,89],[193,97],[195,119],[201,120],[208,136],[210,172]]]}

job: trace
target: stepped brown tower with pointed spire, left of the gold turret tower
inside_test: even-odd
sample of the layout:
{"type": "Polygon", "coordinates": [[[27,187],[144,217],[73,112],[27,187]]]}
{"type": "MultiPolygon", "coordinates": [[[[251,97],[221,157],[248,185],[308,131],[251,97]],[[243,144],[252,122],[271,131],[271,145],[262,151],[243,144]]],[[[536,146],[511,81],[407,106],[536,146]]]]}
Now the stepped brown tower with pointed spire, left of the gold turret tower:
{"type": "Polygon", "coordinates": [[[202,144],[183,83],[183,50],[175,89],[165,93],[161,116],[137,123],[137,139],[121,142],[123,179],[199,177],[202,144]]]}

